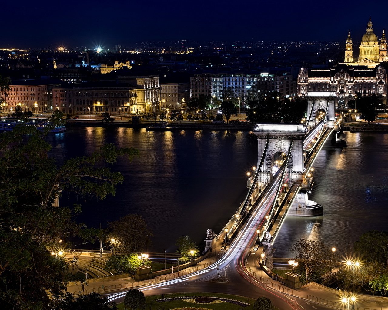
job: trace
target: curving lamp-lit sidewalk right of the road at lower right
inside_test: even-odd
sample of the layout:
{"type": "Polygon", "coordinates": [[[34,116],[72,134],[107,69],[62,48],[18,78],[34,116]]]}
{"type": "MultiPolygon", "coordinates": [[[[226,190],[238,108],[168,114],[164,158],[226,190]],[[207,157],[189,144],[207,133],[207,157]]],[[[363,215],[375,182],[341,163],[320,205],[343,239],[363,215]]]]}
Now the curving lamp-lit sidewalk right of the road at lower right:
{"type": "MultiPolygon", "coordinates": [[[[292,296],[296,296],[299,298],[303,298],[307,301],[317,302],[323,305],[328,305],[336,309],[345,309],[347,308],[347,304],[344,305],[341,302],[340,291],[338,293],[333,293],[331,291],[325,290],[324,288],[320,288],[314,283],[309,283],[307,285],[302,286],[300,289],[290,289],[286,287],[282,282],[275,281],[272,277],[268,276],[260,267],[258,259],[260,259],[259,253],[261,253],[262,248],[256,251],[256,255],[249,255],[245,260],[245,266],[248,272],[259,282],[266,284],[267,286],[277,290],[282,291],[285,294],[289,294],[292,296]],[[345,306],[345,308],[344,308],[345,306]]],[[[380,310],[380,309],[388,309],[388,298],[386,301],[381,304],[381,302],[376,301],[367,301],[363,300],[365,298],[364,295],[356,294],[355,301],[355,310],[380,310]]],[[[383,297],[381,297],[383,300],[383,297]]]]}

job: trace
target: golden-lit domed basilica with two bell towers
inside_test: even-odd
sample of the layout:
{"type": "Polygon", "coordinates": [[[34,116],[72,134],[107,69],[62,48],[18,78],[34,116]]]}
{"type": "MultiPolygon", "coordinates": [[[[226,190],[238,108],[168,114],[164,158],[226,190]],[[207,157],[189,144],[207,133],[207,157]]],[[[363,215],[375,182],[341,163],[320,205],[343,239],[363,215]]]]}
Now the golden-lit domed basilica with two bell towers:
{"type": "Polygon", "coordinates": [[[379,43],[376,34],[373,33],[372,21],[370,17],[366,33],[364,36],[362,36],[358,58],[353,56],[353,43],[349,31],[345,46],[345,64],[366,65],[369,68],[374,68],[380,62],[387,60],[387,41],[385,38],[385,30],[383,30],[383,36],[381,36],[379,43]]]}

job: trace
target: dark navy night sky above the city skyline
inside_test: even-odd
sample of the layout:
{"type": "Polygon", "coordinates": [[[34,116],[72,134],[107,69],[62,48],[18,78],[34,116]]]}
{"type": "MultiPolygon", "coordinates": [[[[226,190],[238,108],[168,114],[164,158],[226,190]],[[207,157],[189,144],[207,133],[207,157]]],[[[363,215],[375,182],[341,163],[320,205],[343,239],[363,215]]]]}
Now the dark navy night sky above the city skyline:
{"type": "MultiPolygon", "coordinates": [[[[6,1],[1,48],[113,47],[144,41],[341,41],[380,38],[385,2],[365,1],[6,1]],[[351,7],[351,8],[348,8],[351,7]]],[[[344,43],[345,44],[345,43],[344,43]]]]}

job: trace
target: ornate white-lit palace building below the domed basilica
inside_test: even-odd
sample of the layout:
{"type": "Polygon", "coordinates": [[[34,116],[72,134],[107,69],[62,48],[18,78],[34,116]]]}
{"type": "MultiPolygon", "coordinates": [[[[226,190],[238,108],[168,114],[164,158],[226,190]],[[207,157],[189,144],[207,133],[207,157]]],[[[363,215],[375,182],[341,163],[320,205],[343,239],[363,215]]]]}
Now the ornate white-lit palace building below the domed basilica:
{"type": "Polygon", "coordinates": [[[336,108],[346,108],[349,100],[357,93],[365,96],[373,93],[385,97],[387,94],[386,68],[348,66],[340,64],[332,69],[301,68],[298,74],[298,96],[335,96],[336,108]]]}

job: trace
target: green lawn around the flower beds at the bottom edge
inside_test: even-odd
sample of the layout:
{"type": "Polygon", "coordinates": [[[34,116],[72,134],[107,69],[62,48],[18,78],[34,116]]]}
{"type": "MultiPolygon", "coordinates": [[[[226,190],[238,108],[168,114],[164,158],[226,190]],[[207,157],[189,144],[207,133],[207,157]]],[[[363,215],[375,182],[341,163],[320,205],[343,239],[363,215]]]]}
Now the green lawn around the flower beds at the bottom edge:
{"type": "MultiPolygon", "coordinates": [[[[182,297],[182,296],[209,296],[209,297],[219,297],[219,298],[229,298],[238,301],[243,301],[245,303],[250,303],[250,306],[244,307],[244,310],[253,310],[253,303],[255,300],[247,297],[236,296],[236,295],[228,295],[228,294],[216,294],[216,293],[176,293],[176,294],[165,294],[165,298],[171,297],[182,297]]],[[[156,302],[155,299],[161,298],[161,295],[147,296],[145,297],[146,306],[145,309],[150,309],[149,306],[151,304],[151,310],[156,310],[158,307],[165,307],[166,310],[174,309],[174,308],[206,308],[212,310],[237,310],[241,309],[241,306],[235,305],[233,303],[223,302],[223,303],[191,303],[184,300],[171,300],[171,301],[163,301],[156,302]]],[[[124,303],[119,303],[118,308],[120,310],[124,310],[124,303]]]]}

